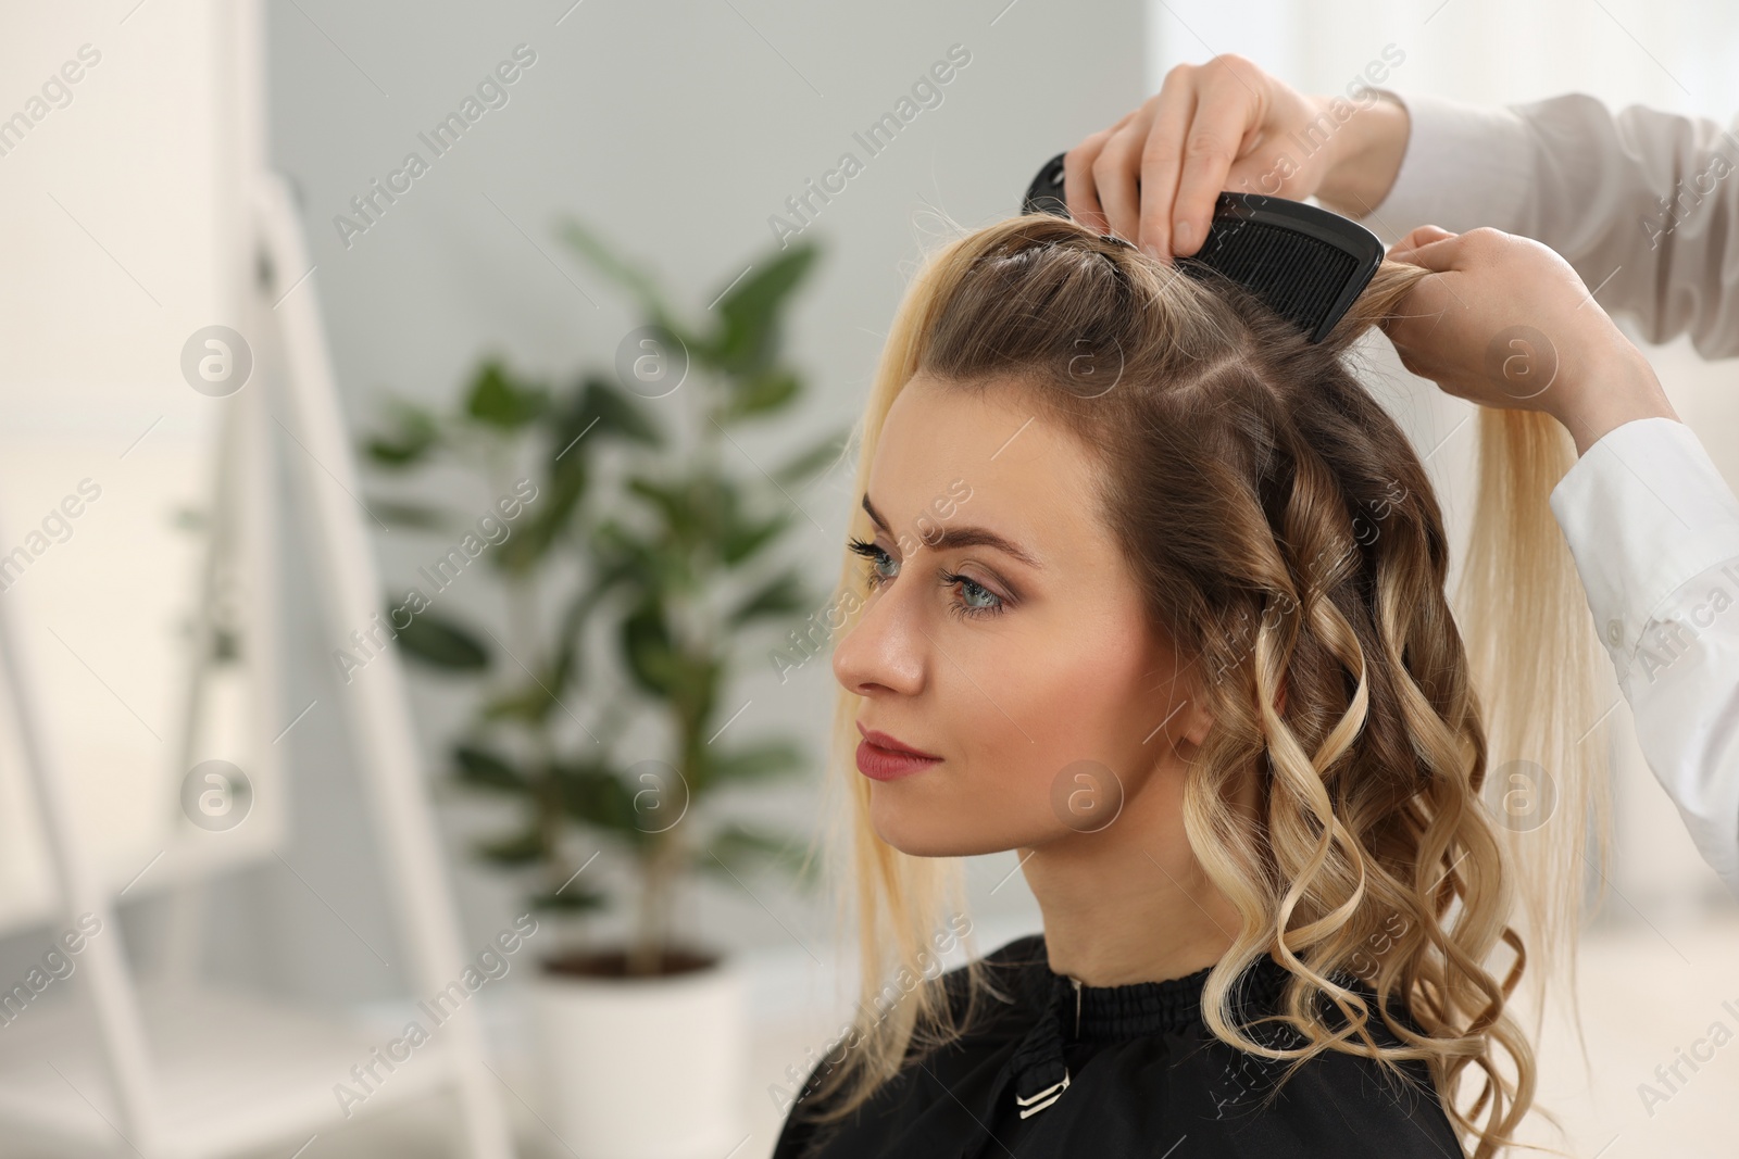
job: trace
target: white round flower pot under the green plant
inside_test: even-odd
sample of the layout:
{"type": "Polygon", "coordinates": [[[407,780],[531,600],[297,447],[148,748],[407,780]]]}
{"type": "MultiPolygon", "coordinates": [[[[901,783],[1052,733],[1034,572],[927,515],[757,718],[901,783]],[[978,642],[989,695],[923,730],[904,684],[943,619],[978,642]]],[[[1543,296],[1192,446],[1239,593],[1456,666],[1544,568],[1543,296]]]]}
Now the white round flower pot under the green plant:
{"type": "Polygon", "coordinates": [[[532,982],[543,1117],[579,1159],[720,1159],[743,1142],[748,990],[689,973],[532,982]]]}

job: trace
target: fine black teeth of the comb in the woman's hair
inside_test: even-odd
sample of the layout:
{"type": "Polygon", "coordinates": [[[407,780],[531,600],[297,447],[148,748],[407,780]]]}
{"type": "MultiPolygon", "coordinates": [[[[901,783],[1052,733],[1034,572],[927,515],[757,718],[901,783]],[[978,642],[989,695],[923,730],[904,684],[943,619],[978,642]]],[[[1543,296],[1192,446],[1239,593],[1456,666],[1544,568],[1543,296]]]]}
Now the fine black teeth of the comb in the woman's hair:
{"type": "Polygon", "coordinates": [[[1263,221],[1216,224],[1221,228],[1209,235],[1212,252],[1179,262],[1184,273],[1202,276],[1203,268],[1216,269],[1306,332],[1325,318],[1358,268],[1346,250],[1294,229],[1263,221]]]}

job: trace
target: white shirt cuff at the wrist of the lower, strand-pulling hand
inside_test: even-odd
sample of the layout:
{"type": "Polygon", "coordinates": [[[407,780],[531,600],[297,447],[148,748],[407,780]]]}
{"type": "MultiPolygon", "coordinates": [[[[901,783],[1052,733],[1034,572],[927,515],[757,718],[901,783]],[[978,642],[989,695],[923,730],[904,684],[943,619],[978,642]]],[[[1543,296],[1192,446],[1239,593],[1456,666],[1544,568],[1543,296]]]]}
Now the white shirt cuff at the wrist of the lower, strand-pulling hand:
{"type": "Polygon", "coordinates": [[[1553,488],[1551,513],[1621,678],[1661,605],[1739,560],[1739,500],[1690,427],[1671,419],[1609,431],[1553,488]]]}

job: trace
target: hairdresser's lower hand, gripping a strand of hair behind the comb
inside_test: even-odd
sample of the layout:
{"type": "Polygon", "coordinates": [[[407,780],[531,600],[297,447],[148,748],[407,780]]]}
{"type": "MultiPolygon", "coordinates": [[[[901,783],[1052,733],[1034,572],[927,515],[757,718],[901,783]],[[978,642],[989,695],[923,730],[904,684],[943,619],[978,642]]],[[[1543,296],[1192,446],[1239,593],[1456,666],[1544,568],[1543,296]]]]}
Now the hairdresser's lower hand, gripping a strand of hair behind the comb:
{"type": "Polygon", "coordinates": [[[1633,419],[1678,419],[1649,360],[1549,247],[1499,229],[1421,226],[1389,257],[1433,271],[1384,330],[1402,365],[1447,393],[1544,410],[1577,454],[1633,419]]]}

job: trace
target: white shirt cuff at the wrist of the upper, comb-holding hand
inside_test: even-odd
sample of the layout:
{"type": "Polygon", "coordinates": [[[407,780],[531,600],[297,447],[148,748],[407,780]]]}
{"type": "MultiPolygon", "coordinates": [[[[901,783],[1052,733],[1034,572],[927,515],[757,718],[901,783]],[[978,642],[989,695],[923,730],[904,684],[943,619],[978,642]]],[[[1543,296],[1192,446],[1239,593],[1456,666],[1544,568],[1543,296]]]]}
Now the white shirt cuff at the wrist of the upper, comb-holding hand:
{"type": "Polygon", "coordinates": [[[1398,101],[1409,122],[1395,184],[1363,221],[1384,245],[1419,226],[1450,233],[1520,228],[1532,196],[1532,146],[1518,113],[1429,94],[1377,92],[1398,101]]]}

